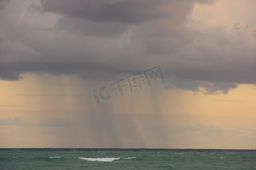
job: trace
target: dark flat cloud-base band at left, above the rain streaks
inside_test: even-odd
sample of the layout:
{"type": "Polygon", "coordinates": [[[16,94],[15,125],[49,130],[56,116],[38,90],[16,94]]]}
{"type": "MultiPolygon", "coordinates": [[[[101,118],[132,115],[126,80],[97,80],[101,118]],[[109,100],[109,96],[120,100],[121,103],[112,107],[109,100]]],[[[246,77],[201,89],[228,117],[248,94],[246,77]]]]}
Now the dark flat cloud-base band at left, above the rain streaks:
{"type": "Polygon", "coordinates": [[[92,62],[14,62],[0,63],[0,78],[19,80],[22,73],[49,73],[53,75],[76,74],[82,79],[113,80],[134,70],[115,69],[102,63],[92,62]]]}

